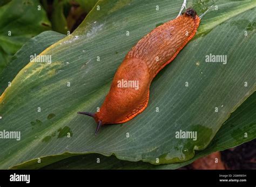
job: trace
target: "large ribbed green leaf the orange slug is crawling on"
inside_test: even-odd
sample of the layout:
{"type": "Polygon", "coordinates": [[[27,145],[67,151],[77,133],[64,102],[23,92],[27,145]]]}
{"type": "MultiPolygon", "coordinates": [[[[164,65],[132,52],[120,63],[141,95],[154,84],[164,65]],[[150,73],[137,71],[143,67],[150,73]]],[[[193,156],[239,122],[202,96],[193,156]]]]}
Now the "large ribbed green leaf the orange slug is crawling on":
{"type": "MultiPolygon", "coordinates": [[[[156,25],[174,19],[181,6],[169,0],[97,5],[100,11],[94,8],[72,35],[41,53],[51,55],[51,64],[28,63],[3,93],[0,130],[21,131],[21,140],[0,141],[0,168],[49,155],[64,159],[70,153],[114,154],[154,164],[156,159],[159,164],[185,162],[207,147],[231,112],[255,91],[255,31],[245,36],[247,27],[237,21],[254,23],[256,2],[220,1],[220,11],[204,17],[197,36],[154,78],[147,109],[95,136],[95,121],[77,111],[96,111],[125,54],[156,25]],[[210,53],[227,55],[227,64],[206,63],[210,53]],[[196,131],[197,141],[176,139],[180,130],[196,131]]],[[[187,6],[200,4],[190,1],[187,6]]]]}

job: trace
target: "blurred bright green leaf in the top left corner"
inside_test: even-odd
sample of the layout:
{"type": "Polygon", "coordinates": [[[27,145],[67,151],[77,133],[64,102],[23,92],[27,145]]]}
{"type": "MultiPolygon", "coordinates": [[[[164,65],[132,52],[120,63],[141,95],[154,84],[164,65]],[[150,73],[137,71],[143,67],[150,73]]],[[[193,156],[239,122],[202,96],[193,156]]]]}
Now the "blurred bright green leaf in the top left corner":
{"type": "Polygon", "coordinates": [[[35,35],[50,30],[51,24],[38,0],[3,1],[0,6],[0,73],[11,56],[35,35]],[[3,4],[2,4],[3,3],[3,4]],[[33,16],[31,16],[33,15],[33,16]]]}

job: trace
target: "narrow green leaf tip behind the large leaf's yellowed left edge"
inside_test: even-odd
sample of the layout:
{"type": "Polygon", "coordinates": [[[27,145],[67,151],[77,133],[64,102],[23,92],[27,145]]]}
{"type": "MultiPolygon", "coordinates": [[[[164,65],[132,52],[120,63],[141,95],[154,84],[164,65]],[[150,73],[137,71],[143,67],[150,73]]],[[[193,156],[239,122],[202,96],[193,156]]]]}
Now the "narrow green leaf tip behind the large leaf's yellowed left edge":
{"type": "Polygon", "coordinates": [[[30,55],[34,56],[35,54],[40,54],[45,48],[65,36],[66,35],[59,34],[57,32],[45,31],[26,42],[21,49],[12,56],[8,66],[4,68],[2,72],[0,71],[0,94],[3,93],[18,72],[28,63],[30,55]]]}

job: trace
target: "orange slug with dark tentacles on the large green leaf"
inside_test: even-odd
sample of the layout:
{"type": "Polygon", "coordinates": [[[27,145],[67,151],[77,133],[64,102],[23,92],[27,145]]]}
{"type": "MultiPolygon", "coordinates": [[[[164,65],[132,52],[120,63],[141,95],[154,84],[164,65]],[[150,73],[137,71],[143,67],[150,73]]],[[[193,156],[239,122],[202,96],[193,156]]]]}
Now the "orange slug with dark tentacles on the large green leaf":
{"type": "Polygon", "coordinates": [[[117,69],[99,112],[78,112],[95,119],[98,124],[95,134],[102,125],[125,123],[146,109],[153,78],[194,37],[199,24],[197,12],[187,9],[176,19],[156,27],[132,47],[117,69]]]}

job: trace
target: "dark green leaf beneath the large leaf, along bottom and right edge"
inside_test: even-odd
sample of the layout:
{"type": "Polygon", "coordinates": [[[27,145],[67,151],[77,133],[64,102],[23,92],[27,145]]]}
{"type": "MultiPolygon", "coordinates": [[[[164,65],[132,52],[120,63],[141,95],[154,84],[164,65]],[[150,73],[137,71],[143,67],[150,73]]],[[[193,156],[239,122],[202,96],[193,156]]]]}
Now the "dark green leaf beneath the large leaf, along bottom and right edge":
{"type": "MultiPolygon", "coordinates": [[[[44,169],[177,169],[192,163],[200,157],[235,147],[245,141],[254,139],[256,133],[255,111],[256,92],[231,114],[230,118],[225,121],[214,136],[210,145],[206,149],[196,152],[193,159],[186,162],[153,165],[145,162],[122,161],[118,160],[115,156],[106,157],[99,154],[87,154],[69,157],[70,155],[67,154],[66,157],[69,157],[68,159],[50,164],[44,167],[44,169]],[[100,163],[97,163],[98,158],[100,163]]],[[[44,162],[37,163],[37,160],[31,160],[12,169],[38,169],[60,159],[63,159],[63,155],[44,157],[44,162]]]]}

